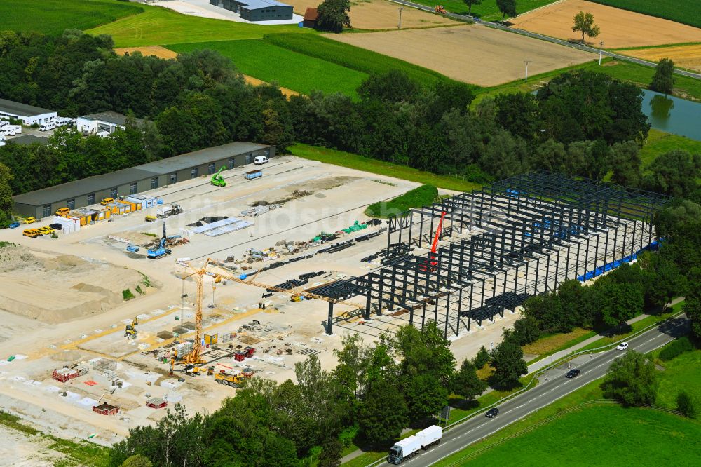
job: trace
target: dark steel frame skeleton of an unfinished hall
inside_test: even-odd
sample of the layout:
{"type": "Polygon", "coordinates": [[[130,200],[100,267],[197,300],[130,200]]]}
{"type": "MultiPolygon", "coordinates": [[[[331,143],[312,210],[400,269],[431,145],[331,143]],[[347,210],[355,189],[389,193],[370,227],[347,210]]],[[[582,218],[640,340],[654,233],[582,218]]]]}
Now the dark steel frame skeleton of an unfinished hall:
{"type": "Polygon", "coordinates": [[[370,327],[372,312],[386,311],[400,324],[423,328],[434,320],[444,337],[470,331],[472,321],[481,326],[530,295],[654,245],[653,217],[668,200],[537,171],[390,217],[386,252],[402,255],[365,276],[315,289],[332,299],[327,334],[342,326],[334,301],[356,295],[365,297],[356,313],[370,327]],[[427,268],[428,252],[409,255],[407,246],[430,248],[442,212],[437,266],[427,268]]]}

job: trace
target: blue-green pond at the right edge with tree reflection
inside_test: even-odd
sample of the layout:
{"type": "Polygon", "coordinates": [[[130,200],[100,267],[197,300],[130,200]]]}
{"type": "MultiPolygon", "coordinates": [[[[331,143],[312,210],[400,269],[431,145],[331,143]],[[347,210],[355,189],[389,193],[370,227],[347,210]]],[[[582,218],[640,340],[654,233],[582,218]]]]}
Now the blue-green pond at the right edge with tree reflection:
{"type": "Polygon", "coordinates": [[[701,141],[701,102],[642,90],[643,112],[652,128],[701,141]]]}

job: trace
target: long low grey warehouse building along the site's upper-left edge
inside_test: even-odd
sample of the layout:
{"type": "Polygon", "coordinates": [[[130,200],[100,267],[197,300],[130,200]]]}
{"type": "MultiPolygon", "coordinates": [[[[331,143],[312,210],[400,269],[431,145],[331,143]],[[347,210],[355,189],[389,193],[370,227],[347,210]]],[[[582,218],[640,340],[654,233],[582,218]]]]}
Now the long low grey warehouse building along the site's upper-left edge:
{"type": "Polygon", "coordinates": [[[229,169],[240,167],[253,163],[257,156],[272,158],[275,156],[275,147],[233,142],[30,191],[13,196],[15,212],[37,219],[49,217],[60,208],[74,210],[100,203],[104,198],[127,197],[203,175],[212,175],[222,165],[229,169]]]}

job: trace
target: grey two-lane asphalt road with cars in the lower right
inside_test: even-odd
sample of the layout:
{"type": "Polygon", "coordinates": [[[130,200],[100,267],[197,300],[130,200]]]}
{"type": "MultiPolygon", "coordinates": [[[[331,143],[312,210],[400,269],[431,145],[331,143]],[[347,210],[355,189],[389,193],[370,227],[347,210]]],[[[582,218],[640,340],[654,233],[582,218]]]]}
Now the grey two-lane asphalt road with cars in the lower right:
{"type": "MultiPolygon", "coordinates": [[[[642,353],[648,353],[659,348],[675,337],[684,334],[685,327],[688,326],[686,318],[677,318],[667,323],[662,323],[660,327],[655,327],[638,337],[628,341],[629,350],[634,349],[642,353]]],[[[571,367],[578,368],[581,373],[578,377],[567,379],[564,377],[568,371],[567,364],[547,370],[547,380],[545,376],[540,377],[538,386],[522,395],[519,395],[498,407],[499,414],[494,419],[484,417],[479,414],[463,424],[451,428],[444,432],[439,445],[430,447],[426,451],[421,451],[417,456],[404,461],[402,466],[430,466],[455,452],[477,442],[482,438],[501,430],[515,421],[518,421],[531,412],[552,404],[552,402],[563,398],[565,395],[576,391],[595,379],[599,379],[606,374],[606,370],[615,358],[623,355],[625,351],[618,351],[613,348],[610,351],[594,353],[592,356],[578,356],[572,360],[571,367]]],[[[381,466],[392,464],[384,462],[381,466]]]]}

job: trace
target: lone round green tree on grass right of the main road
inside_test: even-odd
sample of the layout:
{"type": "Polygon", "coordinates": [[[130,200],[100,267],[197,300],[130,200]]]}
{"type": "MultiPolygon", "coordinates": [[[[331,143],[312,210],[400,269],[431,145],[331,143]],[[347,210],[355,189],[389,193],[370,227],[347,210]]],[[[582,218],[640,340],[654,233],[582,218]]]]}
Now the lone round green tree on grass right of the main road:
{"type": "Polygon", "coordinates": [[[605,398],[620,400],[627,406],[654,403],[657,388],[655,363],[636,351],[627,351],[613,360],[601,383],[605,398]]]}

